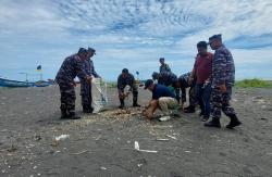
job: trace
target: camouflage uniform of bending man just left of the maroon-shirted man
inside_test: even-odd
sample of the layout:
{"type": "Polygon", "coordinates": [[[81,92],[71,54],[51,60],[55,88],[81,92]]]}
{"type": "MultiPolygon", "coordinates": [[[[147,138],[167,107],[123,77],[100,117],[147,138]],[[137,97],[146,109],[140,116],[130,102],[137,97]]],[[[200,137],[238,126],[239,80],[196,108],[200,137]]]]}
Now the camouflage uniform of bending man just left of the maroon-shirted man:
{"type": "Polygon", "coordinates": [[[181,84],[181,90],[182,90],[182,102],[186,102],[186,88],[189,88],[189,105],[194,105],[195,101],[195,79],[189,85],[189,78],[190,78],[191,72],[183,74],[178,77],[178,83],[181,84]]]}

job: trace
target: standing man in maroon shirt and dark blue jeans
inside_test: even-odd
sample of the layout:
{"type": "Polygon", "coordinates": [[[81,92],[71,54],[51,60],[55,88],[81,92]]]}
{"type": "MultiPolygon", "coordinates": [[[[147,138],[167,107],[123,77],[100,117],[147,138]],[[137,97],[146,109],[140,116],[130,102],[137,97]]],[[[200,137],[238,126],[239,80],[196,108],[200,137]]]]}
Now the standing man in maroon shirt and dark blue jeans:
{"type": "Polygon", "coordinates": [[[201,110],[199,115],[202,116],[203,122],[208,121],[210,116],[211,84],[209,79],[211,77],[213,58],[213,54],[207,51],[207,46],[206,41],[197,43],[198,54],[190,75],[190,79],[196,78],[195,99],[191,110],[195,110],[198,103],[201,110]]]}

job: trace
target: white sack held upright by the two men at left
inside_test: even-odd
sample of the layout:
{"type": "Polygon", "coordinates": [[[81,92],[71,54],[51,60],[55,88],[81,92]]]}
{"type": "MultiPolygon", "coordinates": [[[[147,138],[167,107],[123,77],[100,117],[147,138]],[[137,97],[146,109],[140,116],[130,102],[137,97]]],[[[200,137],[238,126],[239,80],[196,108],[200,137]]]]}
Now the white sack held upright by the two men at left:
{"type": "Polygon", "coordinates": [[[107,84],[101,78],[91,79],[91,105],[94,113],[103,111],[108,104],[107,84]]]}

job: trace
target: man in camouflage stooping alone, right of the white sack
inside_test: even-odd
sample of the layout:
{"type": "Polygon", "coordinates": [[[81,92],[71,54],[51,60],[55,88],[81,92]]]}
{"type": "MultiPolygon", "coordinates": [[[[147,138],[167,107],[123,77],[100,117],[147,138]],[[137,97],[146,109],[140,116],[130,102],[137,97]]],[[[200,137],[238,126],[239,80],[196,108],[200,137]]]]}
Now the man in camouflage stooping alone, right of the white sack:
{"type": "Polygon", "coordinates": [[[128,93],[124,92],[125,86],[129,86],[129,91],[133,92],[133,106],[140,106],[137,103],[138,100],[138,88],[136,86],[134,76],[128,73],[127,68],[122,69],[122,74],[119,75],[118,78],[118,90],[119,90],[119,99],[120,99],[120,109],[123,109],[125,106],[124,99],[128,96],[128,93]]]}

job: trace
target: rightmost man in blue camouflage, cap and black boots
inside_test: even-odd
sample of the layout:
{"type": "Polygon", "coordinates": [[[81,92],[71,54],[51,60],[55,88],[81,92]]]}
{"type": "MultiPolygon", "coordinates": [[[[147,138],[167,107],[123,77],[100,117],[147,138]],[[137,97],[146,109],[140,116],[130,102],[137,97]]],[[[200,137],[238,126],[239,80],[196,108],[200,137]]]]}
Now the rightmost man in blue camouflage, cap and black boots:
{"type": "Polygon", "coordinates": [[[230,104],[232,87],[235,79],[235,66],[232,53],[222,43],[221,35],[213,35],[209,38],[209,45],[215,50],[212,61],[211,76],[211,115],[212,119],[206,123],[207,127],[221,127],[221,110],[231,118],[226,128],[234,128],[242,123],[238,121],[234,109],[230,104]]]}

